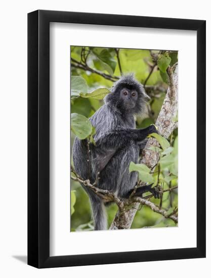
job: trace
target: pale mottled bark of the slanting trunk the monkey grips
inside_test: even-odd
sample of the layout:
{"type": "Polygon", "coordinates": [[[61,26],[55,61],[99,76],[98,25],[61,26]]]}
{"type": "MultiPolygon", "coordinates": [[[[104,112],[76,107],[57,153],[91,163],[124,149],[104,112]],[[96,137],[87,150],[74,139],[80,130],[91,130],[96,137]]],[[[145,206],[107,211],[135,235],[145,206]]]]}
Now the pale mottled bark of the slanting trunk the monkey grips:
{"type": "MultiPolygon", "coordinates": [[[[174,119],[178,113],[178,65],[175,66],[174,73],[172,68],[168,67],[167,73],[170,85],[166,92],[163,105],[156,121],[159,134],[165,138],[168,138],[173,130],[177,127],[177,123],[174,119]]],[[[159,160],[159,154],[149,149],[152,146],[159,146],[155,138],[149,138],[147,145],[143,150],[143,156],[140,161],[140,163],[144,163],[150,168],[153,168],[159,160]]],[[[131,209],[121,212],[118,211],[114,217],[113,222],[111,223],[110,229],[130,228],[139,205],[140,202],[134,203],[131,209]]]]}

